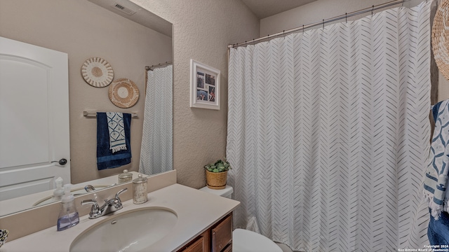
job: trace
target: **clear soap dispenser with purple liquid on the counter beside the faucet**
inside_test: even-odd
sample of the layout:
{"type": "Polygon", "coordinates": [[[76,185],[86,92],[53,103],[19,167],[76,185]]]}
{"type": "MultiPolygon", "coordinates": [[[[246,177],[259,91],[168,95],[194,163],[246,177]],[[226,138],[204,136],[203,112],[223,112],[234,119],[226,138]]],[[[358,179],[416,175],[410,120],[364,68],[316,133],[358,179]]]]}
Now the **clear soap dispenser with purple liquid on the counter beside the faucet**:
{"type": "Polygon", "coordinates": [[[75,201],[72,193],[70,193],[70,185],[64,186],[65,194],[61,199],[61,210],[58,216],[58,231],[72,228],[79,223],[79,214],[76,211],[75,201]]]}

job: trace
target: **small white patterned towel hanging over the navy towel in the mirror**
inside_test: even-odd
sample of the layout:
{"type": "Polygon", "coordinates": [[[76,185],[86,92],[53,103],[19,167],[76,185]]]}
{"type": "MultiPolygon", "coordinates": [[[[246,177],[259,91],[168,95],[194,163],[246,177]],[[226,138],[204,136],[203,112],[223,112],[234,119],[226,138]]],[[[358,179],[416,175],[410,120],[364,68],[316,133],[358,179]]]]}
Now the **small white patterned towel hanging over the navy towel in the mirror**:
{"type": "Polygon", "coordinates": [[[109,148],[112,153],[126,150],[125,127],[123,125],[123,113],[106,112],[107,127],[109,130],[109,148]]]}

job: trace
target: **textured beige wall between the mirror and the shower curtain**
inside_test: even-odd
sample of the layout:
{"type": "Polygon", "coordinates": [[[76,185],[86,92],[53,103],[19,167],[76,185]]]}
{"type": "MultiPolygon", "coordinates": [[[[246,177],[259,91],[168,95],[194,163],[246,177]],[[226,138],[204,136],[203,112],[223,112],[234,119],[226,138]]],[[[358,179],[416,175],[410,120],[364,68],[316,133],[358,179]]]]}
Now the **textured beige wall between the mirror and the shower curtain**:
{"type": "Polygon", "coordinates": [[[227,134],[227,45],[259,35],[240,0],[132,0],[173,23],[173,167],[177,182],[206,185],[203,165],[223,158],[227,134]],[[220,69],[220,111],[189,108],[189,60],[220,69]]]}

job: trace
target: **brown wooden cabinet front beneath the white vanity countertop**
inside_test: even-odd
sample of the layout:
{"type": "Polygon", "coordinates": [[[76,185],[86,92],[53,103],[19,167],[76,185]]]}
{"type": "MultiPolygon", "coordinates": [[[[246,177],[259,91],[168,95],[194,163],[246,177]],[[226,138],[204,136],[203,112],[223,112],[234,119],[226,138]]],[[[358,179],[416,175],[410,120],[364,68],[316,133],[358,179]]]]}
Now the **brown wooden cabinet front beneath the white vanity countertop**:
{"type": "Polygon", "coordinates": [[[232,251],[232,213],[198,237],[192,239],[177,252],[231,252],[232,251]]]}

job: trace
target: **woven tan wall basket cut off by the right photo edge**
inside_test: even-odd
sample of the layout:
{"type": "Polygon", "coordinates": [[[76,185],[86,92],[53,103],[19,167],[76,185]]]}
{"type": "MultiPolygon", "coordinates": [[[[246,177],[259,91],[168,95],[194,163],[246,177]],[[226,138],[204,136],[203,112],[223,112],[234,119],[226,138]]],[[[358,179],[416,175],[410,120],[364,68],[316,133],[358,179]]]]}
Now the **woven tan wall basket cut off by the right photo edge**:
{"type": "Polygon", "coordinates": [[[438,70],[449,80],[449,0],[443,0],[436,10],[432,27],[432,50],[438,70]]]}

